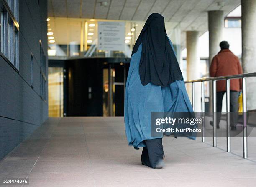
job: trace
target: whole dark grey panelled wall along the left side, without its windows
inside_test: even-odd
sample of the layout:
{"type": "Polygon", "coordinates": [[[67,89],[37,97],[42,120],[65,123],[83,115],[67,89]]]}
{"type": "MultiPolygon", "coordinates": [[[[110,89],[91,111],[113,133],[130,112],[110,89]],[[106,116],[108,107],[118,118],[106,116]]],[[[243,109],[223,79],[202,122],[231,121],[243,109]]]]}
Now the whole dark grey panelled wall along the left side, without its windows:
{"type": "MultiPolygon", "coordinates": [[[[48,118],[40,96],[40,44],[47,53],[47,0],[19,0],[19,72],[0,56],[0,159],[48,118]],[[31,87],[33,54],[33,88],[31,87]]],[[[47,55],[47,54],[45,54],[47,55]]],[[[46,77],[47,77],[46,57],[46,77]]]]}

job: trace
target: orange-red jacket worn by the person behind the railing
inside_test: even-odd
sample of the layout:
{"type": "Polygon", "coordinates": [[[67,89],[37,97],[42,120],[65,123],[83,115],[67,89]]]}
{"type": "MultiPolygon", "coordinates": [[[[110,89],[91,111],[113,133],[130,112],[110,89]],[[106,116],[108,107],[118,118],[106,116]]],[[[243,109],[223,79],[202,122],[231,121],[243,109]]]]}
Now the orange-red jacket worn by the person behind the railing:
{"type": "MultiPolygon", "coordinates": [[[[223,49],[218,52],[212,59],[210,66],[210,76],[228,76],[242,74],[243,70],[240,65],[239,59],[230,50],[223,49]]],[[[240,91],[242,89],[242,80],[231,79],[230,90],[240,91]]],[[[217,92],[226,91],[226,81],[217,81],[217,92]]]]}

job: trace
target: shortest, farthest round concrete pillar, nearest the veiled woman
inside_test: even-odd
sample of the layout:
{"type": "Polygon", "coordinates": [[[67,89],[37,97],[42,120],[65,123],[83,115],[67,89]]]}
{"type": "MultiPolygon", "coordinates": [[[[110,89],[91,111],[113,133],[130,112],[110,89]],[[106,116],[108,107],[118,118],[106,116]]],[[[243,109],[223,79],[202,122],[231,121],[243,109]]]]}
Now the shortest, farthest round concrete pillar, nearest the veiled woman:
{"type": "MultiPolygon", "coordinates": [[[[187,31],[187,80],[199,79],[200,77],[200,54],[199,54],[199,32],[187,31]]],[[[191,99],[191,86],[187,87],[191,99]]],[[[195,83],[195,95],[200,95],[200,87],[195,83]]],[[[195,97],[195,112],[200,111],[200,97],[195,97]]]]}

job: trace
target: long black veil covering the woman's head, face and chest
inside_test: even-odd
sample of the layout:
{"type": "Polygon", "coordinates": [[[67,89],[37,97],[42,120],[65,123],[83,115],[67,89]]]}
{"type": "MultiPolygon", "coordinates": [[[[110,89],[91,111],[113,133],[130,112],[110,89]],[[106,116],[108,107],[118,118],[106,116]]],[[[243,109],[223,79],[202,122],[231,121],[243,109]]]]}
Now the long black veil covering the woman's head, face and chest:
{"type": "Polygon", "coordinates": [[[158,13],[151,14],[133,47],[137,52],[142,44],[139,74],[141,84],[149,82],[165,87],[175,80],[183,80],[178,61],[170,45],[164,27],[164,17],[158,13]]]}

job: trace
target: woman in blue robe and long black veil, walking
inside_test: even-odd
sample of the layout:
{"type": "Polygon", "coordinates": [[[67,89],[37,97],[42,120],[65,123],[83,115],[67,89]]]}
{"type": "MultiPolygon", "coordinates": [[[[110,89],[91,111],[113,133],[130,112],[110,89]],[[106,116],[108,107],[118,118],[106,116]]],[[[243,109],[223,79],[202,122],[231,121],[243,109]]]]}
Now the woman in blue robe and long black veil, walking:
{"type": "Polygon", "coordinates": [[[146,20],[131,55],[125,90],[125,131],[129,145],[143,147],[142,164],[162,168],[162,136],[151,136],[151,112],[192,112],[164,17],[158,13],[146,20]]]}

